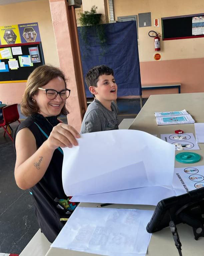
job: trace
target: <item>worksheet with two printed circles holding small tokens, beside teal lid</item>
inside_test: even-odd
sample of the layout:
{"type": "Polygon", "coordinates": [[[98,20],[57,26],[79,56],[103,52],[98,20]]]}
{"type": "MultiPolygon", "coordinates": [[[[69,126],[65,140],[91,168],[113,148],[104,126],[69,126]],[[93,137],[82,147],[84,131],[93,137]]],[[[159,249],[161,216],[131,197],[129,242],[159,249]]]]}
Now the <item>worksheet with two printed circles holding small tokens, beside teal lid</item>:
{"type": "Polygon", "coordinates": [[[200,149],[193,133],[161,134],[161,139],[175,145],[175,150],[200,149]]]}

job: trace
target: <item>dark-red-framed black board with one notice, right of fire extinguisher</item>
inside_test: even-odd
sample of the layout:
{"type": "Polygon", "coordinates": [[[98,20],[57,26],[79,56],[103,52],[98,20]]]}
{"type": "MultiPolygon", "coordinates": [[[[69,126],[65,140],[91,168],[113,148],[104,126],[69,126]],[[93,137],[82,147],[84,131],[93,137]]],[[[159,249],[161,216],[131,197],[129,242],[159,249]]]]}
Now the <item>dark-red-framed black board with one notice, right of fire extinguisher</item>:
{"type": "Polygon", "coordinates": [[[161,18],[163,40],[204,37],[204,13],[161,18]]]}

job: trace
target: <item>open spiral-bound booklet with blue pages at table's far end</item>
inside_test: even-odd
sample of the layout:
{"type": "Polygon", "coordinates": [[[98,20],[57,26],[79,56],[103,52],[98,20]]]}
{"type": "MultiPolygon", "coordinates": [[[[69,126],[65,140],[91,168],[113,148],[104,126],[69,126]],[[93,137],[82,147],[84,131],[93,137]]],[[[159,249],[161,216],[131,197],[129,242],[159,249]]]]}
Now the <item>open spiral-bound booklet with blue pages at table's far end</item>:
{"type": "Polygon", "coordinates": [[[185,109],[182,111],[155,112],[155,117],[157,125],[195,123],[191,115],[185,109]]]}

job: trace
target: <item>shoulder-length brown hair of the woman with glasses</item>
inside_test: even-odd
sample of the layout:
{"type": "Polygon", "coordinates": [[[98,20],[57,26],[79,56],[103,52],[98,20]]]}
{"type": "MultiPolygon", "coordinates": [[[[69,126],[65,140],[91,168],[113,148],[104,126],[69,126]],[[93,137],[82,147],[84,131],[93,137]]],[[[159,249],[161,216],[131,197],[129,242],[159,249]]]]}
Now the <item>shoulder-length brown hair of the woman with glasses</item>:
{"type": "MultiPolygon", "coordinates": [[[[39,107],[32,101],[32,96],[37,94],[39,87],[46,85],[56,77],[61,77],[64,80],[65,88],[67,88],[65,75],[60,69],[51,65],[43,65],[34,69],[34,71],[28,77],[26,89],[23,94],[23,99],[21,102],[22,114],[25,116],[30,116],[38,113],[39,107]]],[[[59,115],[67,115],[68,113],[69,112],[64,105],[59,115]]]]}

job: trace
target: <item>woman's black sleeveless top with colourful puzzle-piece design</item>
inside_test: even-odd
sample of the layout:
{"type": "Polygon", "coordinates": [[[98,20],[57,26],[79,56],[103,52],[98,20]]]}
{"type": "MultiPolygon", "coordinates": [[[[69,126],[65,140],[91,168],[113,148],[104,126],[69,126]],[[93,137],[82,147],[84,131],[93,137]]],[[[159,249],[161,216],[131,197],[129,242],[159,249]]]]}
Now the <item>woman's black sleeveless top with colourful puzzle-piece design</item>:
{"type": "MultiPolygon", "coordinates": [[[[47,139],[46,135],[49,136],[53,126],[58,123],[57,116],[45,118],[40,114],[35,114],[28,117],[16,128],[14,149],[16,134],[21,129],[27,127],[33,133],[37,148],[39,148],[47,139]]],[[[69,218],[76,208],[75,203],[69,202],[71,197],[67,198],[63,190],[62,162],[63,152],[56,149],[44,176],[30,189],[39,226],[51,243],[64,226],[64,221],[69,218]]]]}

